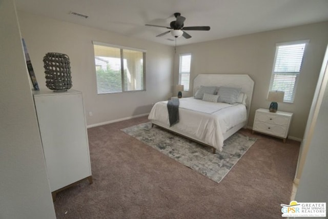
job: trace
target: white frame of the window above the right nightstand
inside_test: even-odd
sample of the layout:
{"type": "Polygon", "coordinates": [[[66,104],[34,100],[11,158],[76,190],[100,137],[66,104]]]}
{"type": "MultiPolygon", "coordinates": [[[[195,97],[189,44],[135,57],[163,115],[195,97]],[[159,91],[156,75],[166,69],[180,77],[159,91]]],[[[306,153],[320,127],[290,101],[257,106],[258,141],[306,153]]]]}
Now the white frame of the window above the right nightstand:
{"type": "Polygon", "coordinates": [[[303,61],[304,61],[304,58],[305,58],[305,50],[308,47],[309,42],[310,42],[309,39],[306,39],[306,40],[303,40],[303,41],[293,41],[293,42],[284,42],[284,43],[277,43],[276,44],[276,52],[275,52],[275,58],[274,58],[273,67],[272,67],[269,91],[273,90],[275,75],[278,75],[278,76],[283,75],[283,74],[284,75],[295,75],[295,81],[294,81],[294,85],[293,85],[293,92],[292,92],[291,99],[286,99],[285,98],[286,95],[285,95],[284,99],[283,99],[283,103],[294,103],[294,101],[295,101],[295,95],[296,95],[296,88],[297,88],[297,85],[298,85],[298,79],[299,79],[299,75],[302,71],[303,61]],[[280,46],[292,46],[292,45],[297,45],[297,44],[305,44],[299,71],[298,72],[275,72],[279,47],[280,46]]]}

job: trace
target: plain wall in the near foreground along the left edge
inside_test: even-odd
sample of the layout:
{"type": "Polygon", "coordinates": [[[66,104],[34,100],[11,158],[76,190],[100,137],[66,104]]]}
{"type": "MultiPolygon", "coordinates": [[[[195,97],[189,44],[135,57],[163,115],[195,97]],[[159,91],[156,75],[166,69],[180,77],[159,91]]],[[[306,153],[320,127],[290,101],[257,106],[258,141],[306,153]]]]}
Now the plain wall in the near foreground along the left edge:
{"type": "Polygon", "coordinates": [[[12,0],[0,1],[0,218],[55,218],[12,0]]]}

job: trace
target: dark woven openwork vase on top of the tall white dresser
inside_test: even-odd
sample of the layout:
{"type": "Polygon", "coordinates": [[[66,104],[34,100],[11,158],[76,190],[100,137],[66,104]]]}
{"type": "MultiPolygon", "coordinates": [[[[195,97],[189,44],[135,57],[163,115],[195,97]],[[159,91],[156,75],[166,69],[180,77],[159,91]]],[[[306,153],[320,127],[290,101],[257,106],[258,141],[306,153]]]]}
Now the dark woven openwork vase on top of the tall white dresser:
{"type": "Polygon", "coordinates": [[[67,91],[72,87],[70,58],[63,53],[48,52],[44,58],[46,86],[54,92],[67,91]]]}

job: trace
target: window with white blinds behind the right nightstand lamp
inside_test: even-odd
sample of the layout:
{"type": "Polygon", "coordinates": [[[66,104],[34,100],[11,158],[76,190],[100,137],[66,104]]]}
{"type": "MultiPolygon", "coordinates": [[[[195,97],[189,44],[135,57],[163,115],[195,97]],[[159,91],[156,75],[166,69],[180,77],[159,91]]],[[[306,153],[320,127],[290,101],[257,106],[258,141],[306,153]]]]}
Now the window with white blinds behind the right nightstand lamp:
{"type": "Polygon", "coordinates": [[[284,91],[283,102],[293,103],[303,55],[309,41],[298,41],[276,45],[270,90],[284,91]]]}

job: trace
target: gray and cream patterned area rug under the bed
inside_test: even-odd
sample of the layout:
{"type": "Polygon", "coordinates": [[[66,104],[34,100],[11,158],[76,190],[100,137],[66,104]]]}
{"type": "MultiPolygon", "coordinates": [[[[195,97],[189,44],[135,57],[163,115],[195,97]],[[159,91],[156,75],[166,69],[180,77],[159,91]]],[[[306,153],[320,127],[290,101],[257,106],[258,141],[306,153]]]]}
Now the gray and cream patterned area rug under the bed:
{"type": "Polygon", "coordinates": [[[233,134],[224,141],[223,150],[216,151],[181,137],[151,123],[143,123],[121,129],[137,140],[168,155],[181,164],[219,183],[245,152],[255,143],[251,138],[239,133],[233,134]]]}

